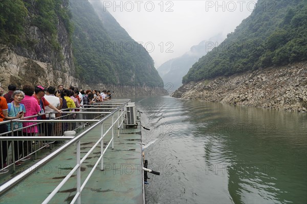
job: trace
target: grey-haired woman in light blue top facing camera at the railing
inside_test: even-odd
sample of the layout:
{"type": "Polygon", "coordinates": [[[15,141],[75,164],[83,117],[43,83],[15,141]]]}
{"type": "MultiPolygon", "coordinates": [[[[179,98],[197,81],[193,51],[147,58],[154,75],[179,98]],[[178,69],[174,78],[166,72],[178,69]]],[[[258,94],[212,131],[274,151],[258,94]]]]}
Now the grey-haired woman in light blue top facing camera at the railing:
{"type": "MultiPolygon", "coordinates": [[[[20,104],[21,100],[23,100],[25,97],[25,93],[23,91],[14,91],[12,94],[13,101],[8,104],[8,116],[5,118],[6,120],[13,120],[13,119],[24,119],[24,115],[26,113],[26,108],[24,104],[20,104]]],[[[8,125],[8,131],[12,131],[11,124],[13,124],[13,130],[15,131],[12,135],[12,132],[8,134],[8,136],[23,136],[23,132],[21,129],[23,128],[22,122],[13,122],[13,123],[7,123],[8,125]]],[[[10,146],[11,141],[8,143],[8,147],[10,146]]],[[[19,160],[19,156],[23,152],[23,141],[14,141],[14,158],[15,161],[19,160]]],[[[25,160],[21,160],[25,161],[25,160]]],[[[16,166],[20,166],[20,162],[15,162],[16,166]]]]}

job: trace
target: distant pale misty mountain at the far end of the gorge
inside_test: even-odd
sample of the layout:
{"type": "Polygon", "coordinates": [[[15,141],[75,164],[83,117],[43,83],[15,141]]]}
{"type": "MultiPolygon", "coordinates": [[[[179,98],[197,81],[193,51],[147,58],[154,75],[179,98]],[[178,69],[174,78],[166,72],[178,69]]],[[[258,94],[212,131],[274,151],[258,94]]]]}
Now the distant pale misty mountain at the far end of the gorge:
{"type": "Polygon", "coordinates": [[[202,56],[206,55],[213,47],[223,40],[222,34],[218,34],[209,40],[204,40],[191,47],[183,56],[171,59],[163,63],[157,70],[169,91],[174,91],[182,85],[182,78],[202,56]]]}

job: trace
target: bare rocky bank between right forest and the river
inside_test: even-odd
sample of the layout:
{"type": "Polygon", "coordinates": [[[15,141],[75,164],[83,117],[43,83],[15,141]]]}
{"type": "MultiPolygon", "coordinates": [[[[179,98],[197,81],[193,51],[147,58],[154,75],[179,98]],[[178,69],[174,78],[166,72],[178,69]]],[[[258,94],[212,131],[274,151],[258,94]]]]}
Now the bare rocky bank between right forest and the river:
{"type": "Polygon", "coordinates": [[[190,82],[172,95],[292,112],[307,112],[307,62],[190,82]]]}

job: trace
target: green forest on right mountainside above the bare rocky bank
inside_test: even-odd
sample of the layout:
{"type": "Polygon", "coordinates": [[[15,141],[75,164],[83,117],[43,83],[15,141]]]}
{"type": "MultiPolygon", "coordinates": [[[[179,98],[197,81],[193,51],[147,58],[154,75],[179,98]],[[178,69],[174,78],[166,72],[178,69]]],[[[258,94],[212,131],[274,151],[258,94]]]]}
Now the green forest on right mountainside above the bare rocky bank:
{"type": "Polygon", "coordinates": [[[252,14],[196,62],[183,83],[307,60],[306,12],[304,0],[258,0],[252,14]]]}

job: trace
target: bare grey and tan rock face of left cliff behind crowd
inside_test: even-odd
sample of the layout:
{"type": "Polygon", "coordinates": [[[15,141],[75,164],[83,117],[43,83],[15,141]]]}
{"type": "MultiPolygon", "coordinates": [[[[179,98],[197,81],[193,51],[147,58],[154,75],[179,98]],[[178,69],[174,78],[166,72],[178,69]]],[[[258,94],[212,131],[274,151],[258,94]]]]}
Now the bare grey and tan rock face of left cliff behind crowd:
{"type": "MultiPolygon", "coordinates": [[[[31,20],[31,19],[28,19],[31,20]]],[[[59,50],[52,45],[52,36],[35,26],[25,27],[28,46],[0,44],[0,82],[3,87],[15,84],[40,84],[78,86],[68,33],[63,22],[58,21],[57,42],[59,50]]]]}

